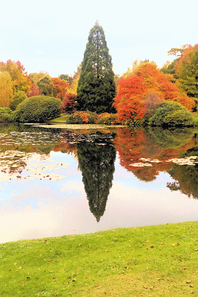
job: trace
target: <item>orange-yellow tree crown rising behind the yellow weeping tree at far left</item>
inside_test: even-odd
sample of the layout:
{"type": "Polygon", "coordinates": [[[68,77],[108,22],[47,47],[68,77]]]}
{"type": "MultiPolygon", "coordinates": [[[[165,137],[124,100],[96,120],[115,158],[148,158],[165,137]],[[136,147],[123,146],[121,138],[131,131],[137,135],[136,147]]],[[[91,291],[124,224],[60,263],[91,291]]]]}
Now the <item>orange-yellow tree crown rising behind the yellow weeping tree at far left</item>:
{"type": "Polygon", "coordinates": [[[12,89],[16,91],[29,91],[30,81],[25,68],[21,62],[8,60],[6,63],[0,62],[0,72],[9,72],[12,79],[12,89]]]}

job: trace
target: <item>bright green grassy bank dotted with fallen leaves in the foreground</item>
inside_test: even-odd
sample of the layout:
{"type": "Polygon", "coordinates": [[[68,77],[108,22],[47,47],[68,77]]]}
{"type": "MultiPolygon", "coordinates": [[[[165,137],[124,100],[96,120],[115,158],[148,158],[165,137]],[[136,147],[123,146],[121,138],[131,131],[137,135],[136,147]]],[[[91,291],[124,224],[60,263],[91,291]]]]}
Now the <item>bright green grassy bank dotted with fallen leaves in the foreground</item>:
{"type": "Polygon", "coordinates": [[[0,244],[0,296],[198,295],[198,222],[0,244]]]}

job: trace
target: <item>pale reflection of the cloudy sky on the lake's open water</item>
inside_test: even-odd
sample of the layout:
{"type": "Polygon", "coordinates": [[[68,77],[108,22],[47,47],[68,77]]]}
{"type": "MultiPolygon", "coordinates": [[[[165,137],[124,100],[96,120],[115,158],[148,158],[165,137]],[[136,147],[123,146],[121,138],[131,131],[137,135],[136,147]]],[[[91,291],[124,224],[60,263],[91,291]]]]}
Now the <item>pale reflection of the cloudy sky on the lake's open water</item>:
{"type": "Polygon", "coordinates": [[[53,151],[50,157],[69,163],[57,172],[65,176],[61,181],[1,182],[0,242],[197,220],[198,201],[166,188],[167,181],[173,181],[168,174],[159,173],[155,181],[146,183],[122,168],[117,157],[106,211],[97,223],[77,159],[53,151]]]}

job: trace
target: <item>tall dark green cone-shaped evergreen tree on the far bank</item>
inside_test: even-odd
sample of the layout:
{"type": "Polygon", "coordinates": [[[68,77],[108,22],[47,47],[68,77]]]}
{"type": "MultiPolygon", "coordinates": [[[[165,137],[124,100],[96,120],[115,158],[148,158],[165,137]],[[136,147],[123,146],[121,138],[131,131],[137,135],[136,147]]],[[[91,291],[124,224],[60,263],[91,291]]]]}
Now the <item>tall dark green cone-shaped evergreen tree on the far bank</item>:
{"type": "Polygon", "coordinates": [[[91,28],[80,78],[78,80],[78,109],[97,113],[115,112],[112,107],[115,82],[111,56],[102,26],[96,21],[91,28]]]}

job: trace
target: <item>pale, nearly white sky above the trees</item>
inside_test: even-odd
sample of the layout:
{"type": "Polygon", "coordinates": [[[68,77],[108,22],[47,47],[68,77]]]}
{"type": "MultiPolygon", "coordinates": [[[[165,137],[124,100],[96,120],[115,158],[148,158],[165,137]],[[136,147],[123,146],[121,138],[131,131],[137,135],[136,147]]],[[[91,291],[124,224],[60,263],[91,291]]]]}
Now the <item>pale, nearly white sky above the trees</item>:
{"type": "Polygon", "coordinates": [[[28,74],[74,74],[89,31],[102,25],[115,74],[149,59],[160,68],[172,47],[198,43],[197,0],[7,0],[1,3],[0,61],[28,74]]]}

